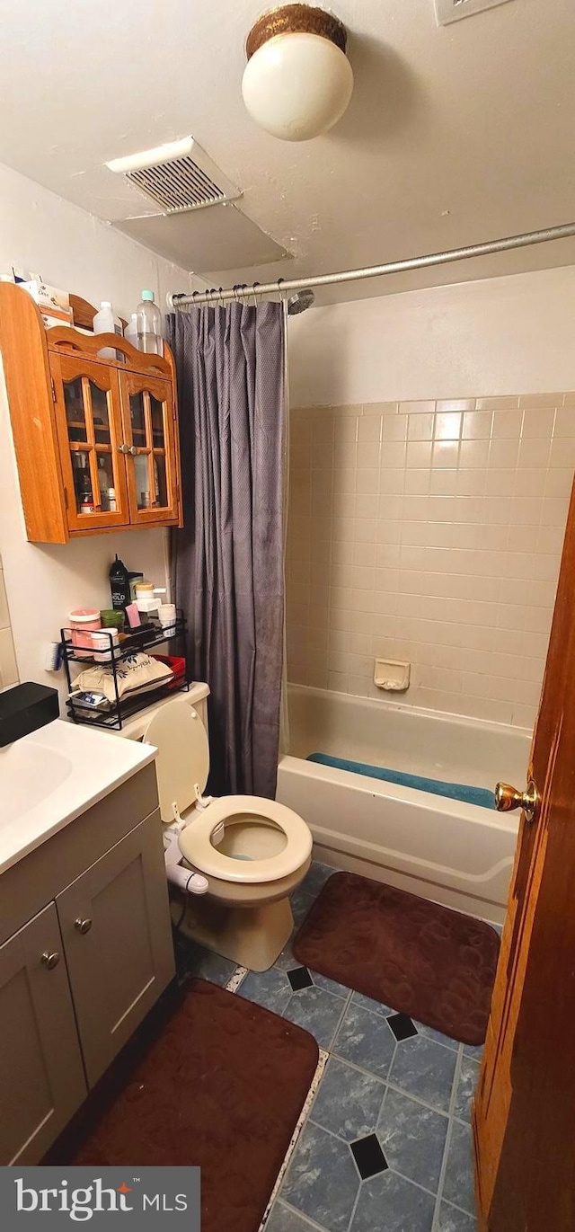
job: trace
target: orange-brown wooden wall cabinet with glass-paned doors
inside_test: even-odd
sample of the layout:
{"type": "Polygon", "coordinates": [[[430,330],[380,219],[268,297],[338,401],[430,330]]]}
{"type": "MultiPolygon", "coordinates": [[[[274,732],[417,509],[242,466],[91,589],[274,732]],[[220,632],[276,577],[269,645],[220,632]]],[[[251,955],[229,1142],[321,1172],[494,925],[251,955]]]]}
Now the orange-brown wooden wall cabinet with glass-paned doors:
{"type": "Polygon", "coordinates": [[[164,350],[145,355],[108,334],[46,330],[28,293],[0,283],[0,351],[28,540],[66,543],[182,525],[176,377],[164,350]]]}

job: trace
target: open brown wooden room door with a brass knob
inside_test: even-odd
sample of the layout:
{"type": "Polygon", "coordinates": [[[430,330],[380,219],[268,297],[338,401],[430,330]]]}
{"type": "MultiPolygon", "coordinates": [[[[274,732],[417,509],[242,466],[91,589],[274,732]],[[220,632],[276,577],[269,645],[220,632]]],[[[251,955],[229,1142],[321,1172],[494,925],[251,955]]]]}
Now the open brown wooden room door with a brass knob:
{"type": "Polygon", "coordinates": [[[474,1109],[481,1232],[575,1228],[575,489],[528,775],[474,1109]]]}

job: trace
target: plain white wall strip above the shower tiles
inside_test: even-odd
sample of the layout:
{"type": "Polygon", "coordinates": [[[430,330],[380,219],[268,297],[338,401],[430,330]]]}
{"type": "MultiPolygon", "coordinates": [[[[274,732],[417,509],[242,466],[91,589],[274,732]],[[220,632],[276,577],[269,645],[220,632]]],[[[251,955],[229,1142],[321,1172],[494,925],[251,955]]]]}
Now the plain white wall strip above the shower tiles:
{"type": "Polygon", "coordinates": [[[313,308],[289,322],[293,407],[575,388],[575,266],[313,308]]]}

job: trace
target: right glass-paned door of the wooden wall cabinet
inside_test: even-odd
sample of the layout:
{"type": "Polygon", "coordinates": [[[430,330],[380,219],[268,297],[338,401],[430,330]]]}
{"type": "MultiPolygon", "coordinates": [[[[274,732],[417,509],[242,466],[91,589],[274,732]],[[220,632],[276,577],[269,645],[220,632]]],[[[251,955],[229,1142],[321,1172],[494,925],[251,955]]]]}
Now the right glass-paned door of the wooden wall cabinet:
{"type": "Polygon", "coordinates": [[[172,383],[163,377],[121,372],[119,386],[131,521],[142,526],[176,524],[180,490],[172,383]]]}

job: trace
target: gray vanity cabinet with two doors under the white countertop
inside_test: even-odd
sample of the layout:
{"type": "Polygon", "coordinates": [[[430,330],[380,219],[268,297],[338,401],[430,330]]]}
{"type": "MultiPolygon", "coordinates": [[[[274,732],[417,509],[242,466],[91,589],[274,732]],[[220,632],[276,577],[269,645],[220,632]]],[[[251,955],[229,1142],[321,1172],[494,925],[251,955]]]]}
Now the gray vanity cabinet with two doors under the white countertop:
{"type": "Polygon", "coordinates": [[[153,765],[2,873],[0,942],[0,1164],[32,1164],[174,976],[153,765]]]}

